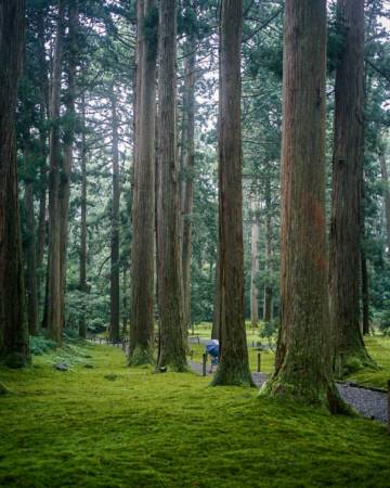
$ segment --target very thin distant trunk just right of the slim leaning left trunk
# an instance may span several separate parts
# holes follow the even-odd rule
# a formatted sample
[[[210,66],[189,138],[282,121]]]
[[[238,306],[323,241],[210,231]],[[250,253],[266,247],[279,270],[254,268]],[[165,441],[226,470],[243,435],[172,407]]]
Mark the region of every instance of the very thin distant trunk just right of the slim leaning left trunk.
[[[87,337],[86,301],[87,301],[87,143],[86,143],[86,100],[81,100],[81,222],[80,222],[80,284],[82,310],[79,321],[79,337]]]

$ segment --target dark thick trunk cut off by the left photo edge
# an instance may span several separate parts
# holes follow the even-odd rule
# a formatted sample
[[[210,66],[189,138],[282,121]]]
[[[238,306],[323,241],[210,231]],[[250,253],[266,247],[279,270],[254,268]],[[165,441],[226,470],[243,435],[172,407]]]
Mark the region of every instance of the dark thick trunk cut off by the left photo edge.
[[[0,361],[29,362],[17,196],[15,108],[25,2],[0,3]]]

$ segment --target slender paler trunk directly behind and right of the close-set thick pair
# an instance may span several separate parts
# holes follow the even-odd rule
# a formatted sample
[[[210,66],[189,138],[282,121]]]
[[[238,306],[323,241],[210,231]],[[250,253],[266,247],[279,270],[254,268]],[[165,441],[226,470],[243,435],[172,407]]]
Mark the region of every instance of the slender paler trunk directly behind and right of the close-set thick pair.
[[[190,2],[186,3],[190,9]],[[182,267],[184,291],[184,328],[191,325],[191,231],[194,193],[194,132],[195,132],[195,63],[196,43],[194,35],[188,35],[184,49],[184,100],[183,100],[183,198],[182,198]]]

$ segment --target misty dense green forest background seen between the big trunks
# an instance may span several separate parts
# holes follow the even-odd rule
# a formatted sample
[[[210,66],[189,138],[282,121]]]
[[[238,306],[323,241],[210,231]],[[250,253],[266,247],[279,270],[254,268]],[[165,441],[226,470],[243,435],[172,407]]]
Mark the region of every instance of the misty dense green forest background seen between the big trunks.
[[[191,222],[191,323],[213,320],[218,255],[217,1],[178,9],[178,155],[181,213]],[[370,328],[390,330],[389,87],[390,12],[365,5],[365,158],[362,310]],[[328,5],[327,211],[330,211],[335,69],[340,39]],[[156,11],[145,18],[156,44]],[[60,42],[60,48],[58,48]],[[157,47],[156,47],[157,49]],[[60,51],[61,50],[61,53]],[[60,222],[64,247],[65,329],[109,324],[129,331],[133,200],[135,2],[27,1],[18,89],[20,200],[28,320],[46,318],[50,219],[50,143],[62,154]],[[246,317],[278,317],[280,154],[283,2],[244,2],[242,125]],[[158,68],[157,68],[158,69]],[[53,85],[58,85],[53,114]],[[188,120],[194,119],[194,139]],[[52,136],[51,136],[52,138]],[[192,157],[188,159],[187,154]],[[190,163],[188,163],[190,162]],[[191,200],[187,202],[188,182]],[[186,206],[185,206],[186,205]],[[368,316],[367,316],[368,304]],[[364,317],[364,316],[363,316]],[[114,321],[114,323],[113,323]],[[367,330],[365,332],[368,332]],[[121,333],[121,332],[120,332]]]

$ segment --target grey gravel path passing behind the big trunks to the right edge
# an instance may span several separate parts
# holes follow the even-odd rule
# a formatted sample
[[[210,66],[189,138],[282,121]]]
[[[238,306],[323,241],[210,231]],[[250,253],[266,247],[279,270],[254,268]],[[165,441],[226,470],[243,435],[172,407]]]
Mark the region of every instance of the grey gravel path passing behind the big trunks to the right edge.
[[[198,374],[202,374],[202,364],[191,362],[191,369]],[[210,365],[207,364],[207,375],[211,375]],[[268,378],[264,373],[252,373],[253,382],[257,386],[261,386]],[[337,383],[337,388],[341,397],[352,406],[361,415],[387,422],[387,394],[385,391],[373,390],[359,386],[353,386],[348,383]]]

